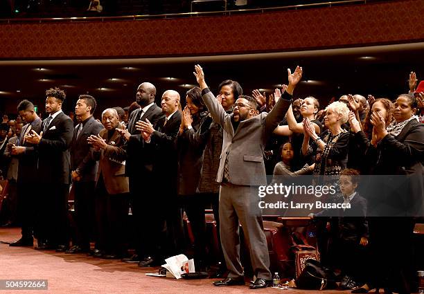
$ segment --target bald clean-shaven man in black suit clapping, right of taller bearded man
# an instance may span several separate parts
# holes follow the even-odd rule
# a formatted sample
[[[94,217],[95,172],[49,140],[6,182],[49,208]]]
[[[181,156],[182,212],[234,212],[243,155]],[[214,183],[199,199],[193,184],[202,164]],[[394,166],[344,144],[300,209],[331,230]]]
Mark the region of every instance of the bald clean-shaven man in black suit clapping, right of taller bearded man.
[[[184,248],[182,209],[177,203],[177,150],[175,138],[181,125],[179,111],[179,93],[168,90],[162,95],[162,111],[165,117],[155,125],[148,120],[138,122],[137,129],[142,133],[146,146],[152,147],[154,153],[153,174],[155,194],[150,194],[148,210],[150,210],[151,234],[146,239],[152,244],[150,256],[139,263],[140,267],[160,265],[163,257],[182,252]],[[152,185],[153,186],[153,185]],[[159,191],[158,191],[159,190]],[[165,209],[164,209],[165,208]],[[160,242],[161,228],[166,223],[166,241]],[[163,230],[163,229],[162,229]],[[148,238],[147,238],[148,237]],[[159,247],[161,251],[158,250]]]

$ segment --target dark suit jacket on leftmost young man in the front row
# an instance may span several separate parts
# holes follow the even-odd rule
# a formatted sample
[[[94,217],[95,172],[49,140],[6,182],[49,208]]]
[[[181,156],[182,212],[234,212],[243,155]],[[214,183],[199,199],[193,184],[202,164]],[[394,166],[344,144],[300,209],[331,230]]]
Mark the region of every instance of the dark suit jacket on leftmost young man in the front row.
[[[25,152],[17,156],[19,158],[17,178],[18,183],[37,182],[37,148],[35,148],[33,144],[30,144],[24,140],[24,136],[26,134],[30,134],[31,130],[37,132],[37,134],[42,131],[42,120],[40,118],[35,119],[30,124],[24,125],[22,128],[19,145],[25,147]]]

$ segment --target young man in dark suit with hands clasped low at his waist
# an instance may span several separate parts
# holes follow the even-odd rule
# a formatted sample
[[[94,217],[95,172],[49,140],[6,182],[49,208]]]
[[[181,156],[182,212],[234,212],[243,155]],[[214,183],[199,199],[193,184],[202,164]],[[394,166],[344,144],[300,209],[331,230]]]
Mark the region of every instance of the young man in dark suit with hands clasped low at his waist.
[[[98,161],[91,159],[89,136],[97,136],[103,125],[94,119],[96,99],[91,95],[80,95],[75,114],[80,123],[73,130],[71,143],[71,176],[73,181],[76,240],[67,253],[88,252],[94,231],[94,190]]]

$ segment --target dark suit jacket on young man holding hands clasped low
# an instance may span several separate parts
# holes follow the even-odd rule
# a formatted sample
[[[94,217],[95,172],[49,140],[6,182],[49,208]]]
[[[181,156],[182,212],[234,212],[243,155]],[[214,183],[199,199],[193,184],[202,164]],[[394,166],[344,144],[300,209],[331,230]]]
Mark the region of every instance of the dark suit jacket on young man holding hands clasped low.
[[[91,135],[97,136],[104,127],[91,116],[88,118],[87,122],[85,122],[84,127],[82,127],[80,131],[80,136],[77,138],[79,128],[80,124],[76,125],[73,130],[70,149],[71,170],[76,170],[76,172],[82,176],[81,182],[96,181],[98,162],[92,160],[90,156],[91,146],[87,143],[87,138]]]

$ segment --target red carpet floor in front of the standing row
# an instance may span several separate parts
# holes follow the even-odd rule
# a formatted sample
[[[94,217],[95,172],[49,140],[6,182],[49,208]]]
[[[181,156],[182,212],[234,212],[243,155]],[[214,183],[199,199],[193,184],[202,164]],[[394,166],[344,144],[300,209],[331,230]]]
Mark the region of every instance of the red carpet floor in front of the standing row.
[[[0,228],[1,241],[19,239],[20,229]],[[350,291],[299,291],[266,288],[250,290],[248,286],[215,287],[214,279],[169,279],[146,277],[158,268],[142,269],[136,264],[105,260],[86,255],[67,255],[53,250],[38,251],[30,247],[0,244],[0,279],[47,279],[48,291],[1,291],[3,293],[350,293]]]

